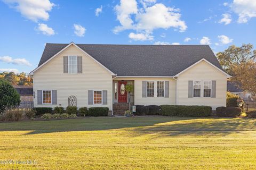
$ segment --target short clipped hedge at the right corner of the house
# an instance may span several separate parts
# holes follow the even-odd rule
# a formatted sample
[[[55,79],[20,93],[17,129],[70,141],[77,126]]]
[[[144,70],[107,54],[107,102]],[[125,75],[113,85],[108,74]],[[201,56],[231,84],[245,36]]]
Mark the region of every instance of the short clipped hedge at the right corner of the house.
[[[242,108],[239,107],[217,107],[216,113],[219,117],[239,117],[242,114]]]

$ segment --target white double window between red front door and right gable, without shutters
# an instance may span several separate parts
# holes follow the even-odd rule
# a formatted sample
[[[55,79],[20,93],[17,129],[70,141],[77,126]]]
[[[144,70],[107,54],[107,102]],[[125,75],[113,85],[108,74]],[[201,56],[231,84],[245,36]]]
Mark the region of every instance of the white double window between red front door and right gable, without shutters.
[[[164,97],[164,81],[156,81],[156,96]],[[155,97],[155,81],[147,81],[147,97]]]

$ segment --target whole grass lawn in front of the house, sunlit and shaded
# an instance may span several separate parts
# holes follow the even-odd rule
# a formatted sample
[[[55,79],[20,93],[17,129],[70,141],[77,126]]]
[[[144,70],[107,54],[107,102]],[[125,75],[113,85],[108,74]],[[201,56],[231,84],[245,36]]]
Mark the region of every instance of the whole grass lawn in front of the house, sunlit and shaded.
[[[256,120],[131,117],[0,123],[0,169],[256,169]]]

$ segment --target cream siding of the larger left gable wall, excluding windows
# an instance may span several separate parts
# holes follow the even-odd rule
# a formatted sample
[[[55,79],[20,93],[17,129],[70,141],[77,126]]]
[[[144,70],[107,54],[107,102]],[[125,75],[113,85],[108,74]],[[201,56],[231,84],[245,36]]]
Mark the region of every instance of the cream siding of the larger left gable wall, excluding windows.
[[[82,56],[83,72],[81,74],[63,74],[63,56]],[[84,54],[74,45],[69,46],[49,63],[34,73],[34,91],[54,89],[58,91],[57,105],[68,106],[68,97],[77,98],[77,107],[102,107],[88,105],[88,91],[107,90],[107,105],[112,110],[112,76],[105,68]],[[56,105],[37,105],[35,93],[34,107],[55,107]]]

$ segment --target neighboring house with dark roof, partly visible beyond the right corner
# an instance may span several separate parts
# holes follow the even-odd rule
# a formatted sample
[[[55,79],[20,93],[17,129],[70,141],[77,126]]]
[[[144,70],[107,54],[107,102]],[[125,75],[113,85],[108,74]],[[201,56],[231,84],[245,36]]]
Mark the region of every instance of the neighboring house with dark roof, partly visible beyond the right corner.
[[[232,94],[238,95],[241,98],[252,98],[251,92],[244,91],[237,86],[237,83],[232,81],[227,81],[227,91]]]

